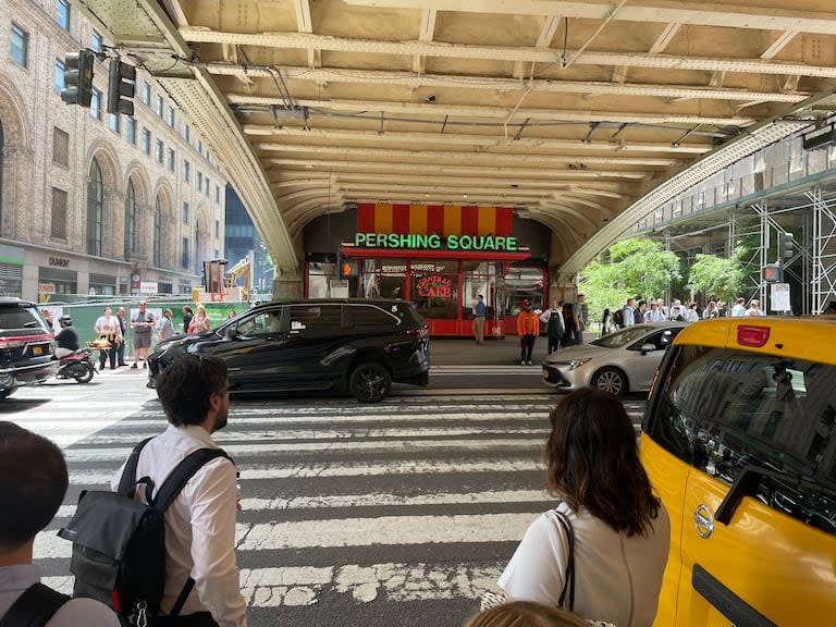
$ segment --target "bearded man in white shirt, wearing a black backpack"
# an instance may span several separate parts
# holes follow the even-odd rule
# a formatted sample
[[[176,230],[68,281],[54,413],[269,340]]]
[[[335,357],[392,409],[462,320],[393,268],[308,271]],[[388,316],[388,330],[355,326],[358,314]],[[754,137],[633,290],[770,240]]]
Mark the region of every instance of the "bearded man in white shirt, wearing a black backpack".
[[[228,385],[226,365],[218,357],[184,355],[165,368],[157,380],[157,395],[169,428],[143,447],[132,479],[147,477],[160,487],[189,454],[218,450],[211,434],[226,426]],[[114,491],[123,469],[111,481]],[[219,455],[194,472],[165,509],[161,613],[167,617],[160,625],[246,627],[247,606],[235,563],[237,505],[235,466]]]

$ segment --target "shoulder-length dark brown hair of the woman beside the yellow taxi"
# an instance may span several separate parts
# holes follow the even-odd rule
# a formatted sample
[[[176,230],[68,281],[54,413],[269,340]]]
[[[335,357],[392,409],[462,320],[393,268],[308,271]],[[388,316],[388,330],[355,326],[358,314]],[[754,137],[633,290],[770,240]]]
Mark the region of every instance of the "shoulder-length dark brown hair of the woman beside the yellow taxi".
[[[628,537],[647,533],[660,500],[639,460],[636,431],[622,402],[608,392],[581,388],[563,398],[549,419],[549,493]]]

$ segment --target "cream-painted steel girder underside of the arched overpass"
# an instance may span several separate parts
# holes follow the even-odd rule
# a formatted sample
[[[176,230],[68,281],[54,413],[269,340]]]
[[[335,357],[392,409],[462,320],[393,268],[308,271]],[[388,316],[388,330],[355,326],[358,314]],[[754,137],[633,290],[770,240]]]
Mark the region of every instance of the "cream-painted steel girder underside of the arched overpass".
[[[393,201],[513,206],[578,269],[676,174],[834,108],[833,0],[74,3],[186,111],[282,266],[318,216]]]

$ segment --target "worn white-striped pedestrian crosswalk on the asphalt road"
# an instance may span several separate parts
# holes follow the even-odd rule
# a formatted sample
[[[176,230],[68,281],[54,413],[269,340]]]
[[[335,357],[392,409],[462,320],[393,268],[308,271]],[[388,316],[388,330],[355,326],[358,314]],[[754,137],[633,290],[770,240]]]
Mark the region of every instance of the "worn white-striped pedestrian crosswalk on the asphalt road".
[[[462,625],[550,506],[541,459],[554,402],[445,391],[378,405],[233,401],[216,440],[241,471],[250,625]],[[118,421],[56,404],[60,426],[45,434],[63,440],[71,487],[35,557],[69,591],[71,545],[56,530],[81,490],[103,489],[165,421],[156,401]],[[643,402],[627,406],[638,422]]]

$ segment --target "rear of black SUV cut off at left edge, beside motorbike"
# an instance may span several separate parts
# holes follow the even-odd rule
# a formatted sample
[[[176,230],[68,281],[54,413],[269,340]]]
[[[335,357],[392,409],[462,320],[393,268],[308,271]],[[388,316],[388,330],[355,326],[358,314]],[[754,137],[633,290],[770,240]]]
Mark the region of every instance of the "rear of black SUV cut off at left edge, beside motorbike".
[[[34,303],[0,297],[0,398],[58,370],[52,330]]]

